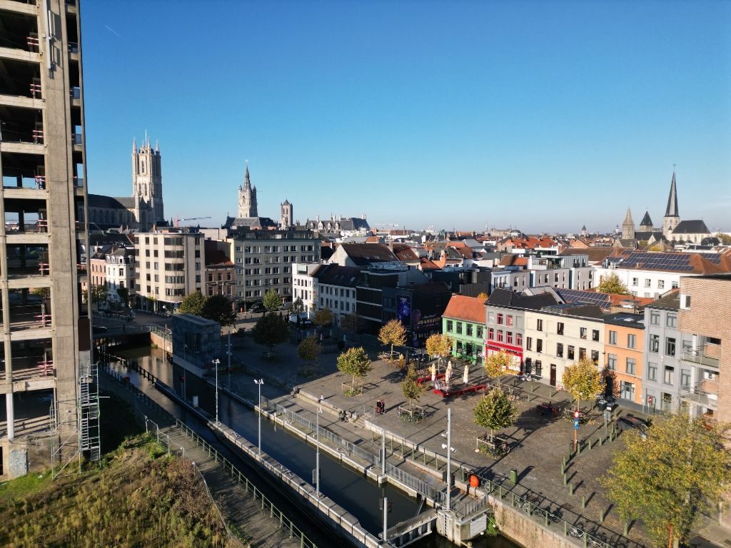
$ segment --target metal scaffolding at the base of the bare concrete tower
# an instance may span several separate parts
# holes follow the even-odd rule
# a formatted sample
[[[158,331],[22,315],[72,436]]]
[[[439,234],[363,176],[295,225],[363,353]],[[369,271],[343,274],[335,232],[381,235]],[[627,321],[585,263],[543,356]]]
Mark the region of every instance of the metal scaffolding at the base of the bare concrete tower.
[[[92,463],[102,457],[99,435],[99,368],[95,363],[79,366],[77,399],[54,400],[50,407],[51,470],[56,478],[70,471],[69,465],[78,461],[81,471],[83,457]]]

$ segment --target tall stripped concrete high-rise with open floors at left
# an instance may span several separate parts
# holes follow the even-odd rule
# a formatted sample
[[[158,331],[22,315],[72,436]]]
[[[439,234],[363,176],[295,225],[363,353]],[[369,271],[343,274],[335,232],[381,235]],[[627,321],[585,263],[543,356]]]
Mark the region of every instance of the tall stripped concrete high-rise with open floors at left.
[[[26,473],[29,459],[48,463],[50,454],[56,465],[83,454],[98,460],[99,427],[90,414],[98,400],[82,291],[88,229],[78,2],[3,1],[0,28],[4,480]],[[53,402],[50,418],[45,398]],[[50,451],[48,437],[27,443],[49,421]]]

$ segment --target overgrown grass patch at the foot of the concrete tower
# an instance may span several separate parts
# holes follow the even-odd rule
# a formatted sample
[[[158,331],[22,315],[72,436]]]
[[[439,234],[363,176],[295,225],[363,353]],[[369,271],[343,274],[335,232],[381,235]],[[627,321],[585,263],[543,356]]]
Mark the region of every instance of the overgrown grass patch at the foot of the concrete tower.
[[[0,546],[241,546],[228,539],[192,464],[151,436],[127,438],[86,473],[37,476],[0,487]]]

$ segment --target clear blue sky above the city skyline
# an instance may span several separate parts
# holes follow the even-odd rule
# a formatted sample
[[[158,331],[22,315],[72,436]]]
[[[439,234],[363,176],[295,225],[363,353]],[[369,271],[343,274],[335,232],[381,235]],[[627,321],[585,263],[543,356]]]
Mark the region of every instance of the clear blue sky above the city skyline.
[[[88,189],[165,213],[609,230],[631,205],[731,230],[731,2],[83,1]]]

